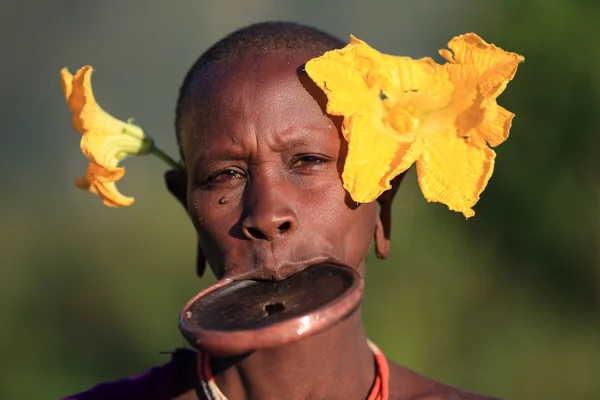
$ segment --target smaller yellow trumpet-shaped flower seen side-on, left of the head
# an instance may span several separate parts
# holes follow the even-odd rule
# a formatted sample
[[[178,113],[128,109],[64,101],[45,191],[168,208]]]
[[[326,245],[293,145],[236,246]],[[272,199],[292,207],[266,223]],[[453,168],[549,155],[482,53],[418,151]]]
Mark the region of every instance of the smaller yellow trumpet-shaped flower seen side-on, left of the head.
[[[83,135],[81,150],[90,159],[85,176],[77,178],[75,184],[98,195],[107,206],[128,206],[133,197],[122,195],[115,185],[125,174],[118,165],[128,155],[152,152],[154,142],[140,127],[114,118],[96,103],[92,71],[90,66],[79,69],[75,76],[66,68],[60,71],[63,93],[73,112],[73,127]]]

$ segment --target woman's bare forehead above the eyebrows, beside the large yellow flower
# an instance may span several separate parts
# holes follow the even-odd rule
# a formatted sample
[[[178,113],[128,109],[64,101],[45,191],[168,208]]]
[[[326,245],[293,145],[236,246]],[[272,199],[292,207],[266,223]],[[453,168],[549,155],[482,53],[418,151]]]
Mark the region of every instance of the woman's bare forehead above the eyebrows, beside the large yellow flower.
[[[303,72],[306,61],[318,55],[247,52],[204,68],[193,82],[179,124],[186,159],[199,144],[245,129],[240,125],[259,131],[284,129],[286,124],[331,125],[323,111],[325,95]]]

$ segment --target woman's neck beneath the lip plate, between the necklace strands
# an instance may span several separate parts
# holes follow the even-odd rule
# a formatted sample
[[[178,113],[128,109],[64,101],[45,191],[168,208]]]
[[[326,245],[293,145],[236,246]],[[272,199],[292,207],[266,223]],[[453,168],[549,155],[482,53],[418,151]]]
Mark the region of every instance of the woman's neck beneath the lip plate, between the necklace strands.
[[[375,361],[360,309],[336,326],[273,349],[212,359],[215,382],[229,399],[364,400]]]

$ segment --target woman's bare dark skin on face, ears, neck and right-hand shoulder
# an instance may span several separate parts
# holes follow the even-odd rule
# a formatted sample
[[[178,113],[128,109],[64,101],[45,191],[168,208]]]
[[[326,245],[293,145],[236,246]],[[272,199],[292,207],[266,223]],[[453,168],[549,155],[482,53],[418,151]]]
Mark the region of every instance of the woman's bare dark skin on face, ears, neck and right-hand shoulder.
[[[219,279],[284,279],[321,262],[365,274],[373,238],[389,252],[391,202],[357,205],[344,190],[339,119],[301,66],[318,54],[244,53],[217,62],[181,121],[187,173],[167,186],[186,207],[204,260]],[[225,200],[223,200],[225,199]],[[489,399],[390,364],[390,399]],[[360,310],[333,328],[274,349],[214,358],[230,399],[365,399],[375,378]],[[202,394],[197,394],[202,398]]]

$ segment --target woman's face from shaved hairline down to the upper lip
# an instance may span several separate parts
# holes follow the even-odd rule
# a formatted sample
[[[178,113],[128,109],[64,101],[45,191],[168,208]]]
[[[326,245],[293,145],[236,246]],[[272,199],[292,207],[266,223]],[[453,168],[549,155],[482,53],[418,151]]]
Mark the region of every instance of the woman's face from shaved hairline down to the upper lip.
[[[364,270],[376,205],[342,187],[346,142],[298,72],[310,58],[218,61],[188,99],[187,208],[217,278],[283,279],[321,262]]]

